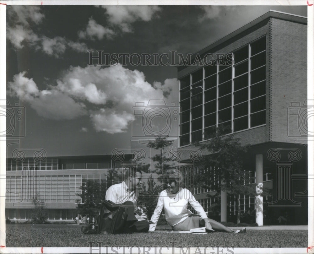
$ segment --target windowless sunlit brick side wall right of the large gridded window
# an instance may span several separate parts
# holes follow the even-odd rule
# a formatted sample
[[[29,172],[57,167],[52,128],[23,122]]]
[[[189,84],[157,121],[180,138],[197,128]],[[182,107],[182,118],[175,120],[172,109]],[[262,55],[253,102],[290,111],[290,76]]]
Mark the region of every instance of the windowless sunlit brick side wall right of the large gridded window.
[[[270,27],[270,140],[294,143],[302,137],[298,115],[288,116],[288,107],[307,98],[307,25],[271,18]]]

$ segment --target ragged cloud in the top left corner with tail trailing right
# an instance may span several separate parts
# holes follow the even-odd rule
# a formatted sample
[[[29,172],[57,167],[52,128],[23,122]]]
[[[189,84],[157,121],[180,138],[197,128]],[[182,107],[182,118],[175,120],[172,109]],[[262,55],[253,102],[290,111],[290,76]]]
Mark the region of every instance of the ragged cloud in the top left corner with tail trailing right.
[[[49,56],[60,57],[67,48],[78,52],[86,52],[85,43],[73,42],[56,36],[49,38],[37,35],[32,29],[41,24],[45,18],[39,6],[11,5],[8,7],[7,38],[15,48],[21,49],[27,43],[35,50],[41,50]]]

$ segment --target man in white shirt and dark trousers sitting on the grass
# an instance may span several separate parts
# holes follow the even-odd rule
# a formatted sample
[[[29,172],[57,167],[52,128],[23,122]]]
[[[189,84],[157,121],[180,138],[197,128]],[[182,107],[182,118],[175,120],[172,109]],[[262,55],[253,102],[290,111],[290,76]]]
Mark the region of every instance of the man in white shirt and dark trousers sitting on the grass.
[[[106,191],[106,201],[110,201],[113,204],[121,204],[120,209],[124,209],[125,212],[125,224],[123,225],[121,230],[118,230],[118,233],[148,232],[148,221],[138,215],[134,215],[134,210],[138,199],[138,187],[142,182],[142,172],[136,170],[135,168],[129,168],[125,171],[124,176],[125,180],[122,183],[114,184],[110,186]],[[118,210],[112,212],[111,218],[114,218],[117,211]],[[99,220],[97,219],[98,225],[101,225],[101,227],[103,228],[98,229],[98,231],[100,231],[100,234],[108,234],[111,225],[106,225],[106,223],[108,223],[108,220],[106,220],[105,224],[101,223],[101,219],[102,218],[99,218]],[[121,218],[117,219],[121,220]],[[82,232],[84,234],[94,234],[96,233],[96,231],[97,228],[95,227],[95,225],[92,225],[92,228],[82,228]]]

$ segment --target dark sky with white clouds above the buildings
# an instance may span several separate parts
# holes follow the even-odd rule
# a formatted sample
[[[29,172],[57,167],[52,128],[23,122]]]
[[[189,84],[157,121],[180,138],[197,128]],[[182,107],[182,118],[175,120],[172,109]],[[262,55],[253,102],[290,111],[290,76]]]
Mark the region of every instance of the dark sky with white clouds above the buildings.
[[[47,156],[111,154],[140,136],[152,138],[142,128],[143,112],[149,100],[177,109],[177,68],[142,66],[136,55],[89,65],[88,50],[195,53],[270,9],[307,16],[306,6],[8,5],[7,100],[24,117],[9,129],[7,139],[23,137],[7,140],[7,156],[17,148],[27,156],[38,148]],[[176,119],[171,115],[162,133],[177,137]],[[152,130],[168,120],[157,114]]]

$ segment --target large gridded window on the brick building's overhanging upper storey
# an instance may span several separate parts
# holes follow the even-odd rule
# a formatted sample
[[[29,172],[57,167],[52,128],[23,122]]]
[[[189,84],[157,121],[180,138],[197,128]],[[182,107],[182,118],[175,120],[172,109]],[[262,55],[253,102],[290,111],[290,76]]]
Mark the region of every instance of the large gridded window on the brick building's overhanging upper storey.
[[[266,36],[230,54],[180,79],[180,146],[266,123]]]

